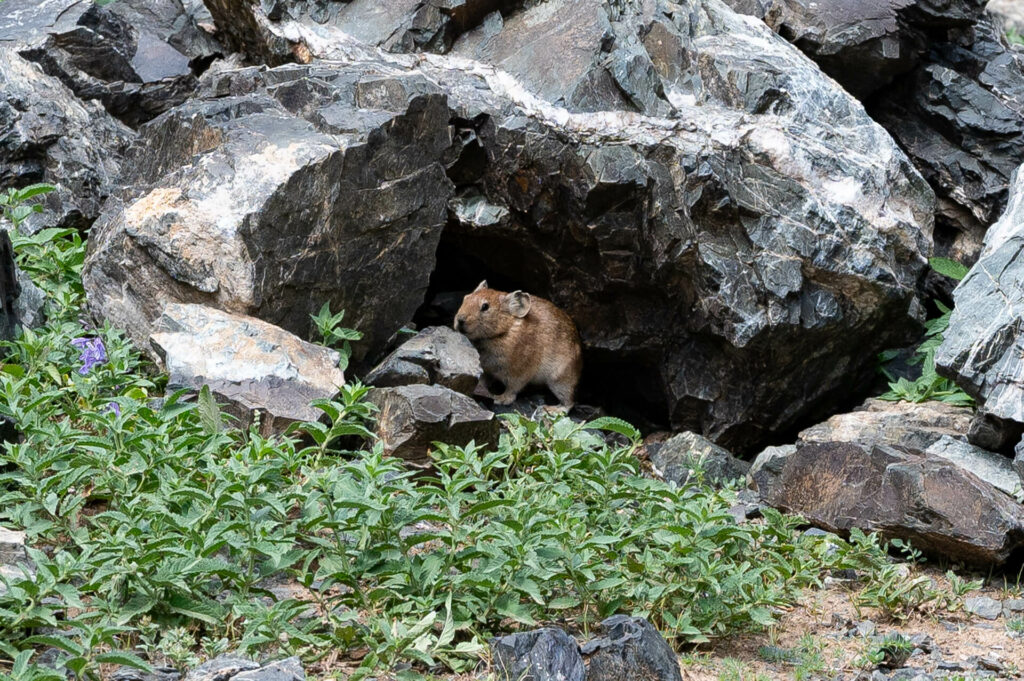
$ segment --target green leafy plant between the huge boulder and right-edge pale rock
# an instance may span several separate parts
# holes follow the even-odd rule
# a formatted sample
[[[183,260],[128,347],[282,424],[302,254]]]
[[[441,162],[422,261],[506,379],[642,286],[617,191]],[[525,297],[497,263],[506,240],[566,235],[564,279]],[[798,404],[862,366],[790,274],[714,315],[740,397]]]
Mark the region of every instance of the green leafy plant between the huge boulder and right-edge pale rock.
[[[935,271],[956,281],[964,279],[968,272],[967,267],[948,258],[932,258],[929,262]],[[890,383],[889,391],[880,395],[880,399],[910,402],[935,399],[965,407],[974,405],[974,399],[959,386],[951,380],[939,376],[935,371],[935,352],[942,345],[942,335],[949,327],[949,317],[952,314],[952,308],[946,307],[938,301],[935,301],[935,304],[942,314],[925,323],[925,341],[918,346],[914,356],[908,363],[912,366],[921,366],[921,376],[913,381],[893,376],[885,364],[895,357],[897,351],[887,350],[881,353],[879,355],[881,371],[890,380]]]

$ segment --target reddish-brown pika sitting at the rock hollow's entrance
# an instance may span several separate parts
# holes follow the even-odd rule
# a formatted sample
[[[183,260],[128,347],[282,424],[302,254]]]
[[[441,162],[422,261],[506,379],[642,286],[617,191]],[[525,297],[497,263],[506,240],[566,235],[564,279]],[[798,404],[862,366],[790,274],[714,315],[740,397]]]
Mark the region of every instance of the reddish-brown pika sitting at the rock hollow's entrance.
[[[463,299],[455,330],[479,350],[483,371],[505,384],[496,403],[511,405],[535,384],[548,386],[566,410],[572,407],[583,370],[580,333],[551,301],[495,291],[483,281]]]

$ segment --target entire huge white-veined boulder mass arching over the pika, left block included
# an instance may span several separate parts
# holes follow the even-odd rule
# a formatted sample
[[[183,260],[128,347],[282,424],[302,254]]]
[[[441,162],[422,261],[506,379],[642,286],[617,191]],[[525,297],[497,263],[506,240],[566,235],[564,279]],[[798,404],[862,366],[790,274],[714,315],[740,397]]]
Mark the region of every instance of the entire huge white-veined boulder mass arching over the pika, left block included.
[[[551,299],[609,406],[743,453],[866,388],[873,351],[915,329],[931,248],[933,197],[906,158],[717,2],[579,0],[603,28],[563,35],[567,2],[409,57],[345,37],[344,7],[317,24],[313,5],[278,20],[211,0],[254,58],[317,60],[209,74],[145,126],[92,240],[93,309],[135,338],[165,300],[304,335],[330,300],[367,333],[358,366],[423,302],[443,229],[442,250],[483,271],[440,260],[435,282],[494,273]],[[575,94],[516,73],[500,58],[514,42],[574,54]]]

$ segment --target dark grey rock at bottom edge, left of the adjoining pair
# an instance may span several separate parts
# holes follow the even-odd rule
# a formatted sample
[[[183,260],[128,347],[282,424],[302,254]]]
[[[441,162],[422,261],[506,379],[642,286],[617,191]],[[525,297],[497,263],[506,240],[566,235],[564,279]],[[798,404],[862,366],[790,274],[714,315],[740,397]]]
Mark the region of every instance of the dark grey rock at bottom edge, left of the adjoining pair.
[[[490,641],[498,681],[584,681],[580,646],[561,629],[538,629]]]

